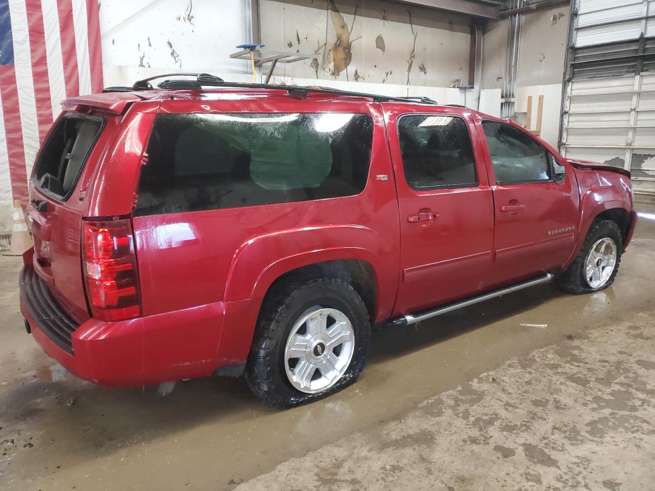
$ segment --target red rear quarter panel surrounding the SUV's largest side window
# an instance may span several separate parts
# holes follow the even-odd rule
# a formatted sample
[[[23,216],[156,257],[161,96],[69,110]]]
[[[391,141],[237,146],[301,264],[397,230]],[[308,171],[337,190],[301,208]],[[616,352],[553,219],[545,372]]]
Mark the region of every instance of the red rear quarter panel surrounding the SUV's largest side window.
[[[400,236],[379,105],[315,99],[321,103],[312,97],[162,102],[161,111],[171,113],[368,113],[374,122],[373,148],[367,185],[356,196],[135,217],[144,315],[225,300],[227,310],[248,302],[256,319],[261,297],[280,274],[331,259],[369,262],[379,283],[376,318],[390,314],[398,285]],[[377,180],[379,174],[388,175],[388,180]],[[252,304],[250,298],[255,299]],[[234,329],[252,334],[254,323],[249,320]]]

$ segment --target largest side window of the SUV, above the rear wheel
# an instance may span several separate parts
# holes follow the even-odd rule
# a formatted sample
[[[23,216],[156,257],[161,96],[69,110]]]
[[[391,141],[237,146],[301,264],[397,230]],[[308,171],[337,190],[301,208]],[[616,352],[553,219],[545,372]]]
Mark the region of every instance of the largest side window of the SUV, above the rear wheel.
[[[135,215],[353,196],[372,141],[361,114],[159,115]]]

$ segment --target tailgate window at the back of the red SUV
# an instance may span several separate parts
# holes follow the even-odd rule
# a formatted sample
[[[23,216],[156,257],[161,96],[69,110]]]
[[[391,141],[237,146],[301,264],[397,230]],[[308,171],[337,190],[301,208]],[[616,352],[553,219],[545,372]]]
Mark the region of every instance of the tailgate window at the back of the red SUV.
[[[96,117],[64,117],[52,129],[36,164],[37,186],[56,198],[68,198],[102,131]]]

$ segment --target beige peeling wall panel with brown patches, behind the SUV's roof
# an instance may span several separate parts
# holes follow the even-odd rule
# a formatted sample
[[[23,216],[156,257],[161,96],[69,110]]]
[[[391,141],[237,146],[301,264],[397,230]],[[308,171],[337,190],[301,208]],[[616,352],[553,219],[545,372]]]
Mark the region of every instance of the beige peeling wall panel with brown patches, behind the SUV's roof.
[[[411,85],[468,84],[468,16],[382,0],[333,3],[350,31],[352,53],[348,73],[333,75],[329,52],[337,31],[330,5],[327,0],[260,1],[261,40],[267,48],[321,55],[313,67],[310,60],[278,64],[276,75],[407,84],[411,62]]]

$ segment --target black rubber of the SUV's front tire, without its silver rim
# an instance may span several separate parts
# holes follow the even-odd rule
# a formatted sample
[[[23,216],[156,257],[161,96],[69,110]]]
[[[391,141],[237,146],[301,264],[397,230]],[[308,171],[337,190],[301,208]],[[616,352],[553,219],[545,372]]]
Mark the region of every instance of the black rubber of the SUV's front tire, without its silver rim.
[[[614,240],[614,244],[616,244],[616,263],[614,264],[614,270],[607,282],[600,287],[592,288],[589,286],[585,278],[586,259],[591,251],[591,246],[605,237]],[[618,266],[621,263],[622,252],[623,240],[618,225],[611,220],[596,219],[591,223],[587,237],[585,238],[575,261],[573,261],[571,266],[569,266],[569,268],[557,278],[555,283],[562,291],[574,293],[575,295],[603,290],[614,283],[614,278],[616,278],[616,273],[618,272]]]

